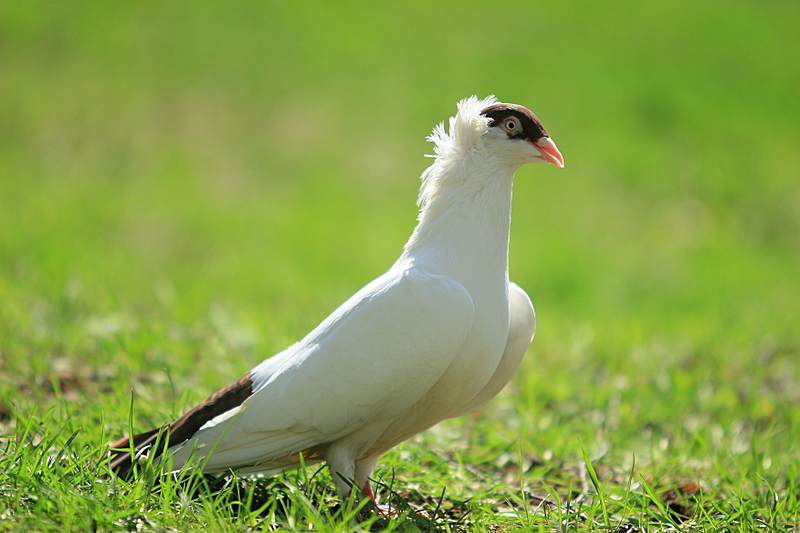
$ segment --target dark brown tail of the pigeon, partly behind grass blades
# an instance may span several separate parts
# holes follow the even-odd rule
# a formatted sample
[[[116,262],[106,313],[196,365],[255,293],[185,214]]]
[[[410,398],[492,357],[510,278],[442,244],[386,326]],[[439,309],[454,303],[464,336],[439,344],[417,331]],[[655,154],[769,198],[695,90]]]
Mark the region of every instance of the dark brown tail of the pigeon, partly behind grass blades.
[[[252,381],[248,373],[190,409],[175,422],[111,444],[109,468],[119,477],[127,479],[131,475],[137,454],[147,450],[151,459],[161,456],[170,446],[189,440],[206,422],[241,405],[252,394]]]

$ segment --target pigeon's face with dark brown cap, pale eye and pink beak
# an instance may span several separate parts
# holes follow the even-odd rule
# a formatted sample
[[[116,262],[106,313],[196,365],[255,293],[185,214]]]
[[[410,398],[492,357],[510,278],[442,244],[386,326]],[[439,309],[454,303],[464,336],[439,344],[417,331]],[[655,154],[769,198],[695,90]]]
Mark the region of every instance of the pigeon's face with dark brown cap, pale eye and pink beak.
[[[498,141],[519,146],[524,159],[564,167],[564,157],[530,109],[515,104],[493,104],[480,114],[488,119],[488,133]],[[525,157],[527,156],[527,157]]]

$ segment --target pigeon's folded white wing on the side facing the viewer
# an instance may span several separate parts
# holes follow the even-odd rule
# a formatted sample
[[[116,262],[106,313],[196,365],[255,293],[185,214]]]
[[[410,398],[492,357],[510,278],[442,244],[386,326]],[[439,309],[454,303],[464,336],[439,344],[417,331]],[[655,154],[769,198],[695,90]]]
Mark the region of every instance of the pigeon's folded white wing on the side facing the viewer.
[[[253,395],[176,447],[214,450],[205,468],[272,461],[405,413],[445,372],[472,327],[467,290],[419,269],[390,271],[305,339],[251,373]],[[228,422],[232,420],[232,422]]]

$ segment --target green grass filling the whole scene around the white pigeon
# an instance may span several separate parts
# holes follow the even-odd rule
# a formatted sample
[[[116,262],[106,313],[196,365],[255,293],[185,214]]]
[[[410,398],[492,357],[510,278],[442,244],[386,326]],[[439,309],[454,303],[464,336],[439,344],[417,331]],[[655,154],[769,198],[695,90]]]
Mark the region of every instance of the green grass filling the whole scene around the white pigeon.
[[[0,531],[796,529],[798,27],[790,1],[0,4]],[[405,515],[354,520],[316,468],[103,475],[130,420],[388,268],[425,135],[490,93],[566,158],[516,181],[538,330],[486,409],[386,454]]]

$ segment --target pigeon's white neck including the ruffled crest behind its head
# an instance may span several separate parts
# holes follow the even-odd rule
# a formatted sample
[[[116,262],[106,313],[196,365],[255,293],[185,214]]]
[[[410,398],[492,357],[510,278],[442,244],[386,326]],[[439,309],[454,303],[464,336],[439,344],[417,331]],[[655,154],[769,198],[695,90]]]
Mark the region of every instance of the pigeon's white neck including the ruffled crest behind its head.
[[[507,275],[511,189],[516,166],[487,144],[480,111],[496,100],[467,98],[429,137],[436,160],[422,174],[419,224],[400,261],[455,274],[467,265]],[[482,265],[482,267],[480,266]],[[485,274],[485,272],[484,272]]]

